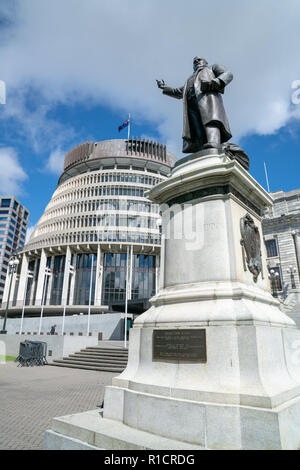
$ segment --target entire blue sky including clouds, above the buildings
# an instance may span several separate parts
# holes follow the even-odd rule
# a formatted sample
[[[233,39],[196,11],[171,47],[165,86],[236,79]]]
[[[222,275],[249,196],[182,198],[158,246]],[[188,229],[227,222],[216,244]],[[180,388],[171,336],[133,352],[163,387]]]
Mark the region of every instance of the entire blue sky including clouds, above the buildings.
[[[251,174],[271,191],[300,187],[298,0],[1,0],[0,185],[37,223],[63,157],[86,140],[159,140],[179,158],[182,103],[162,96],[183,85],[195,55],[234,74],[224,96]]]

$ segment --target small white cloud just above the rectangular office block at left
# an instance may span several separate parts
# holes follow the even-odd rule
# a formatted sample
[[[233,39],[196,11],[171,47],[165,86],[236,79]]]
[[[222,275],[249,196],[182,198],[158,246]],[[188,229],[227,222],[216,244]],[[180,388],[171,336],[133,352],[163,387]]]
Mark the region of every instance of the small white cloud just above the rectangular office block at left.
[[[22,183],[27,179],[27,175],[13,148],[0,147],[0,168],[1,195],[17,196],[22,194]]]

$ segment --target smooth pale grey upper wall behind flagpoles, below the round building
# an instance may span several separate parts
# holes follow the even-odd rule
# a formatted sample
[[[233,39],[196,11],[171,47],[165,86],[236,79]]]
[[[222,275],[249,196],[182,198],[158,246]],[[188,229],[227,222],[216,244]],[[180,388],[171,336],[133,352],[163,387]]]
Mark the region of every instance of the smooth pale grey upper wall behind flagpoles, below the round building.
[[[62,316],[44,317],[42,321],[41,333],[47,335],[51,327],[56,325],[56,332],[58,335],[62,333]],[[73,333],[74,336],[86,336],[87,334],[87,315],[66,316],[64,332],[66,336]],[[90,317],[90,333],[93,337],[98,339],[99,333],[102,334],[103,340],[121,340],[123,338],[123,320],[121,320],[121,313],[105,313],[91,315]],[[1,324],[1,319],[0,319]],[[21,325],[20,318],[8,318],[6,329],[10,335],[19,333]],[[25,317],[23,321],[22,331],[25,334],[38,333],[40,325],[39,317]],[[23,335],[24,336],[24,335]],[[35,336],[36,338],[36,336]],[[0,338],[1,339],[1,338]]]

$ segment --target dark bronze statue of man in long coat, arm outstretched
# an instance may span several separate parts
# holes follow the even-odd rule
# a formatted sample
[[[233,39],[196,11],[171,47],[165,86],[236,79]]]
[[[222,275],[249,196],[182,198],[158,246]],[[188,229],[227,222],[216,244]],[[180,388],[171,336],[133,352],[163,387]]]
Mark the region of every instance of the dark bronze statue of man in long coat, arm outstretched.
[[[231,139],[231,131],[221,94],[233,79],[222,65],[208,66],[205,59],[194,58],[194,73],[180,88],[157,80],[163,93],[184,102],[183,153],[218,148]]]

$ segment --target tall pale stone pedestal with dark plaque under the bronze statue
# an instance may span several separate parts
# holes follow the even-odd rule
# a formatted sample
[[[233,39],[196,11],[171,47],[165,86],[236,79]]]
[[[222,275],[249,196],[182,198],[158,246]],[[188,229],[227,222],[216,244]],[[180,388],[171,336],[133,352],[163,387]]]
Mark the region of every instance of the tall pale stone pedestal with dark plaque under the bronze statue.
[[[299,448],[300,334],[270,293],[262,242],[271,197],[210,150],[179,162],[150,198],[163,209],[161,289],[131,329],[128,366],[106,388],[103,422],[179,448]],[[261,239],[257,279],[241,245],[246,214]],[[179,330],[205,330],[206,357],[157,358],[157,330],[170,341]]]

